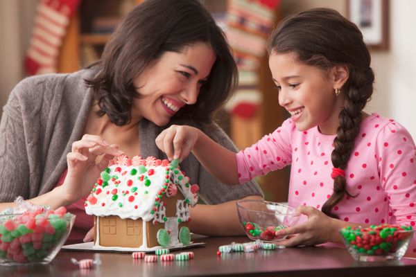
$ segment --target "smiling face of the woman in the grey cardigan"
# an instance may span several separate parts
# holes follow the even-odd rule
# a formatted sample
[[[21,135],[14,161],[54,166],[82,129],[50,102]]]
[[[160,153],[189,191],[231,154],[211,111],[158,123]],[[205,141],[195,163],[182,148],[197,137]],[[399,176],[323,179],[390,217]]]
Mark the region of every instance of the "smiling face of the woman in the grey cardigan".
[[[182,107],[196,103],[215,60],[211,46],[204,43],[164,53],[133,82],[140,98],[132,104],[132,118],[166,125]]]

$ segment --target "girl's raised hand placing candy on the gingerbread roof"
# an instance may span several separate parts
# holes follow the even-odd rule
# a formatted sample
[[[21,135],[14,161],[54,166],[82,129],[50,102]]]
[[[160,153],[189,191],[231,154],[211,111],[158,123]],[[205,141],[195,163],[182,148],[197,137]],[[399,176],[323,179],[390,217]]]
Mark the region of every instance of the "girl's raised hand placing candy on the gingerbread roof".
[[[164,129],[155,142],[157,147],[166,153],[169,161],[183,161],[198,141],[199,130],[187,125],[172,125]]]

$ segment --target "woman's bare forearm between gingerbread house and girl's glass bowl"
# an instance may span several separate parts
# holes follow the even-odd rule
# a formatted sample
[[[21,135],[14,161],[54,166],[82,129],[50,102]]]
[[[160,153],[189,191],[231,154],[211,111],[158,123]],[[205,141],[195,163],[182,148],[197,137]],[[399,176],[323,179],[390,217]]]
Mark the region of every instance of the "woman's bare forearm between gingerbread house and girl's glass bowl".
[[[262,198],[258,195],[250,195],[242,199]],[[238,200],[216,205],[197,204],[192,207],[191,222],[189,222],[191,232],[201,235],[243,235],[243,227],[239,222],[236,208]]]

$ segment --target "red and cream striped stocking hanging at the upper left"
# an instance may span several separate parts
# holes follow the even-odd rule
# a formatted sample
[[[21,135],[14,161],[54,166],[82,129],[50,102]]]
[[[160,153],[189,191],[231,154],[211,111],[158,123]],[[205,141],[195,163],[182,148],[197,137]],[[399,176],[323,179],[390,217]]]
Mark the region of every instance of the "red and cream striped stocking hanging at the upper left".
[[[80,0],[40,0],[24,66],[28,75],[58,71],[62,39]]]

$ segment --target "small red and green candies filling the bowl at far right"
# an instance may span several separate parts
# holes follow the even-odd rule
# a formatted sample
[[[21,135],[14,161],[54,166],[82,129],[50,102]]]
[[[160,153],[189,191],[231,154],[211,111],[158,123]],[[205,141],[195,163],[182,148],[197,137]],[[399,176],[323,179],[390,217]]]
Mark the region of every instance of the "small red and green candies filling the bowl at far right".
[[[345,241],[358,253],[377,256],[395,253],[399,247],[406,243],[409,236],[413,235],[408,232],[410,230],[412,230],[412,226],[382,224],[356,229],[347,226],[340,232]]]

